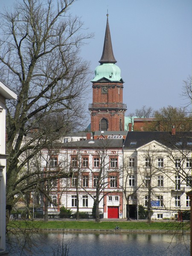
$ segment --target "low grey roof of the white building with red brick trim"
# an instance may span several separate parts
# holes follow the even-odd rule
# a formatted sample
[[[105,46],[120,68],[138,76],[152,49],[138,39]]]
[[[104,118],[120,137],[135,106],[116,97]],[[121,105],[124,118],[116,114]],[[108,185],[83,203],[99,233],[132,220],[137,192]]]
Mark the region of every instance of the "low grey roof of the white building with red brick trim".
[[[80,140],[69,143],[55,143],[54,146],[64,148],[122,148],[123,140]]]

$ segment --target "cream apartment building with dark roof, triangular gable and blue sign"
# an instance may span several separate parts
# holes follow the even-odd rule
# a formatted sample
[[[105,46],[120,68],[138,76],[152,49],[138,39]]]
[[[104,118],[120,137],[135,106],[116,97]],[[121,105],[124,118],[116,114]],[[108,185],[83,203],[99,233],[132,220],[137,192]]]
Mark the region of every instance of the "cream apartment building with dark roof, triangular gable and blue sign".
[[[192,183],[190,132],[128,132],[123,154],[131,218],[137,218],[139,205],[147,209],[149,200],[152,219],[180,218],[181,212],[190,209],[186,195]]]

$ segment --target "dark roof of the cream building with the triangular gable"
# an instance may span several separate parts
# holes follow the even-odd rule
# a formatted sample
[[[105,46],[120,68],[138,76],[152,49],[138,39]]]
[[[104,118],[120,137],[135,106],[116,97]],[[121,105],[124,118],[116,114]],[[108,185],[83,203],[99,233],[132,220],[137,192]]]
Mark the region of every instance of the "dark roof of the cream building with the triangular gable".
[[[129,131],[124,142],[124,149],[137,149],[153,140],[173,149],[192,149],[191,132],[176,132],[172,135],[171,132],[166,131]]]

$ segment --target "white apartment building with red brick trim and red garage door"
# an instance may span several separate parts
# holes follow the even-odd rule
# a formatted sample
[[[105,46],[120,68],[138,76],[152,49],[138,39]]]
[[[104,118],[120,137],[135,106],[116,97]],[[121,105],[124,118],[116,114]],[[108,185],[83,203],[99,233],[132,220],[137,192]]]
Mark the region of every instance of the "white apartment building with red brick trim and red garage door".
[[[76,212],[79,198],[79,211],[91,215],[98,191],[101,216],[122,218],[122,143],[122,139],[81,140],[44,148],[42,169],[70,176],[52,182],[49,214],[58,214],[62,206]]]

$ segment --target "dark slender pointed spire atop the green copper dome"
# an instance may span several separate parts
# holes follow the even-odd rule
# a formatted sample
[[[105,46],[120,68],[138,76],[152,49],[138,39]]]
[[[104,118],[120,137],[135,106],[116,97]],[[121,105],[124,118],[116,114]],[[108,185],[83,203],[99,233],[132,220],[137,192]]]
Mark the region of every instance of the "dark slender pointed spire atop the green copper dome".
[[[113,55],[113,47],[111,43],[111,34],[109,29],[109,22],[108,22],[108,14],[107,14],[107,25],[105,30],[105,40],[103,45],[103,53],[100,59],[100,63],[116,63],[116,59]]]

